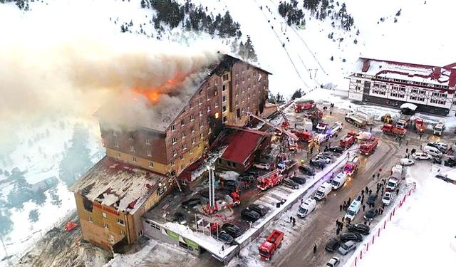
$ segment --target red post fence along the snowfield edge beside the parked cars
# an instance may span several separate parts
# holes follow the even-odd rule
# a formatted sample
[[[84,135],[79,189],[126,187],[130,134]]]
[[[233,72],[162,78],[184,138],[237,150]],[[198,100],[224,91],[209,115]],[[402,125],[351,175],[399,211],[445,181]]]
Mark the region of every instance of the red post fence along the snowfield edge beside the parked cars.
[[[361,246],[353,253],[353,255],[348,258],[348,261],[344,265],[345,267],[354,267],[357,266],[357,264],[363,259],[364,256],[366,256],[366,253],[368,253],[369,249],[372,248],[372,246],[375,244],[375,239],[380,238],[380,233],[386,229],[386,225],[388,224],[388,221],[391,221],[393,219],[393,216],[395,216],[396,212],[398,209],[404,204],[405,200],[407,199],[412,192],[415,192],[416,189],[416,183],[413,183],[412,187],[408,189],[407,192],[403,195],[403,198],[400,199],[400,201],[395,201],[395,206],[393,206],[392,209],[390,209],[390,214],[385,216],[378,224],[375,226],[374,229],[371,230],[371,234],[373,234],[367,241],[364,241]]]

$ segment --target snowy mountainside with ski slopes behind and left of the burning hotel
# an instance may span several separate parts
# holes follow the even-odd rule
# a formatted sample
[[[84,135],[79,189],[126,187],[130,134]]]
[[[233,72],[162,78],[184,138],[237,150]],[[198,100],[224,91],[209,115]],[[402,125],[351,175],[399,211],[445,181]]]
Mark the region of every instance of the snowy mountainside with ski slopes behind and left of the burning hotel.
[[[170,30],[163,25],[163,31],[158,33],[152,22],[155,11],[141,9],[140,2],[43,0],[30,2],[31,11],[21,11],[12,3],[0,4],[0,23],[4,26],[2,28],[5,36],[17,37],[21,36],[21,33],[28,34],[27,29],[36,29],[33,31],[35,38],[48,38],[46,34],[49,32],[56,36],[61,33],[71,35],[73,31],[119,33],[120,26],[128,24],[132,33],[123,34],[134,34],[140,38],[158,37],[162,43],[181,43],[187,46],[211,42],[214,47],[222,46],[227,51],[231,50],[234,38],[224,39],[216,36],[212,40],[208,33],[187,32],[182,26]],[[184,4],[185,0],[178,2]],[[353,62],[361,55],[435,65],[446,65],[455,61],[451,49],[453,37],[448,30],[452,25],[452,10],[456,6],[452,1],[443,3],[438,0],[346,0],[347,12],[355,21],[351,31],[343,30],[338,24],[332,26],[333,20],[330,16],[321,21],[316,19],[316,14],[311,14],[307,10],[304,10],[305,28],[288,26],[279,15],[280,0],[192,2],[207,6],[207,11],[212,12],[213,16],[229,11],[234,21],[240,23],[243,33],[241,39],[245,41],[247,36],[252,38],[258,55],[257,64],[273,73],[269,87],[273,93],[291,95],[298,88],[311,90],[320,88],[321,85],[331,85],[330,87],[338,90],[339,95],[343,95],[343,91],[348,87],[345,77],[350,73]],[[341,9],[340,6],[343,4],[343,1],[328,2],[334,6],[335,11]],[[300,0],[298,3],[298,7],[302,8],[303,1]],[[35,25],[37,21],[41,28]],[[43,37],[41,33],[46,34]],[[47,43],[52,44],[51,41],[50,38]],[[39,58],[40,55],[35,56]],[[11,65],[6,67],[10,68]],[[0,88],[4,86],[1,83],[0,80]],[[1,93],[0,89],[0,104]],[[40,110],[34,112],[40,113]],[[5,116],[0,117],[0,121],[7,121],[6,115],[0,115]],[[28,184],[59,176],[58,164],[63,152],[66,151],[65,144],[69,144],[73,127],[76,123],[81,123],[81,119],[75,119],[73,115],[69,118],[54,114],[55,116],[57,119],[40,120],[24,127],[16,125],[8,130],[4,127],[5,123],[0,125],[0,139],[7,138],[11,141],[8,150],[5,148],[2,150],[4,153],[0,153],[0,169],[3,171],[0,175],[2,204],[8,201],[8,194],[14,189],[14,183],[4,174],[5,170],[11,172],[15,167],[19,168],[25,172],[24,177]],[[65,124],[66,127],[61,127],[60,121],[68,122]],[[91,159],[95,161],[102,155],[97,122],[86,117],[82,122],[90,132],[88,147]],[[4,143],[0,142],[0,145]],[[6,154],[9,157],[5,157]],[[61,181],[61,177],[58,178]],[[6,234],[6,247],[9,253],[16,253],[25,247],[26,243],[23,242],[28,239],[30,233],[24,229],[39,233],[39,230],[46,229],[59,219],[58,216],[51,214],[64,214],[63,211],[74,208],[72,194],[63,182],[56,188],[62,200],[61,207],[52,203],[50,192],[46,192],[47,200],[41,206],[33,201],[27,201],[23,209],[1,207],[0,219],[9,217],[14,223],[9,234]],[[37,209],[40,214],[39,221],[35,223],[27,220],[33,209]],[[3,255],[4,251],[0,250],[0,258]]]

